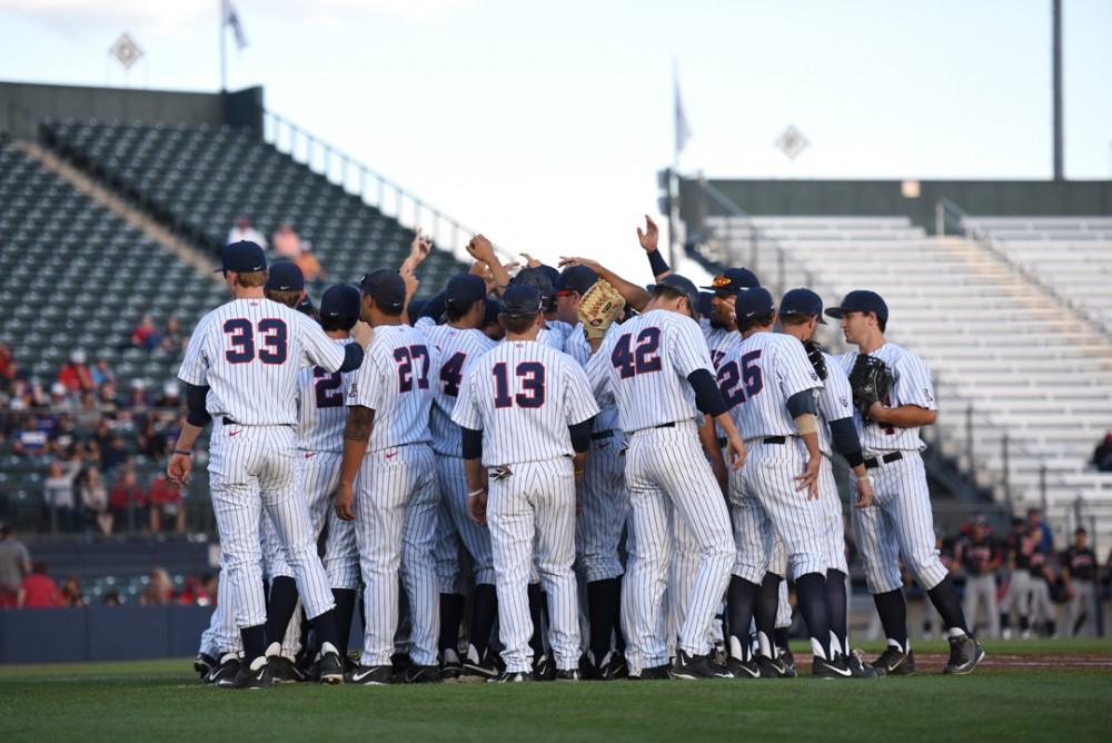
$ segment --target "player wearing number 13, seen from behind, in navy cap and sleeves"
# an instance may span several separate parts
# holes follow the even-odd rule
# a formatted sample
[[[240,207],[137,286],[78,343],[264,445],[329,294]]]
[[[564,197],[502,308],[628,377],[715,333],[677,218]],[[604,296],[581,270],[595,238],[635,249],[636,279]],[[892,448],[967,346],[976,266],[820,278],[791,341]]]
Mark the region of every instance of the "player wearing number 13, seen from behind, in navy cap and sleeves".
[[[575,482],[583,476],[598,407],[583,369],[536,340],[540,308],[535,288],[506,289],[506,340],[474,363],[451,416],[463,428],[470,514],[490,528],[505,646],[502,682],[533,677],[527,585],[534,549],[548,594],[556,678],[579,677]]]

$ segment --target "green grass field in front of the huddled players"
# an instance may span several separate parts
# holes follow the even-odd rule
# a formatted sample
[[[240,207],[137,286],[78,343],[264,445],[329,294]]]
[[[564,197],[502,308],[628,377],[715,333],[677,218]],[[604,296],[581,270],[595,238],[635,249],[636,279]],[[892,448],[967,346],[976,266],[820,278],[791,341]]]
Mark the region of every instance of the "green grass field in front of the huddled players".
[[[920,643],[916,651],[941,648]],[[932,672],[880,681],[302,685],[260,692],[201,685],[188,660],[9,665],[0,666],[0,731],[4,741],[160,743],[1110,740],[1112,642],[990,643],[986,650],[987,662],[961,678]],[[804,653],[800,646],[801,660]],[[1083,657],[1093,654],[1102,657]],[[1014,662],[1046,665],[1004,665]]]

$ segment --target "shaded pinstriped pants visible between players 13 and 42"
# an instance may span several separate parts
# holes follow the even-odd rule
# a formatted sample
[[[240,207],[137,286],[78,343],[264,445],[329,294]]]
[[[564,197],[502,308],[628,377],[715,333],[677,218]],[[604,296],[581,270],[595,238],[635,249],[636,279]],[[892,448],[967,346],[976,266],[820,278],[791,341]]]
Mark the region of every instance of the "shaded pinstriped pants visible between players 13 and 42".
[[[629,514],[620,455],[622,435],[590,442],[578,489],[579,515],[575,525],[576,571],[585,583],[606,581],[623,573],[618,543]]]

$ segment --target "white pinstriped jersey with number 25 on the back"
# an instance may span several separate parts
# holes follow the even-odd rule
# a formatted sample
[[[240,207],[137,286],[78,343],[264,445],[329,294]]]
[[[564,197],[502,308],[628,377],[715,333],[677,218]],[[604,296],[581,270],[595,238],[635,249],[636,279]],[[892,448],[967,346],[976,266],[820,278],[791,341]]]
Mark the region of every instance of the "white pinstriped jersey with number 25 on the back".
[[[792,336],[754,333],[722,359],[718,387],[743,439],[795,436],[798,430],[787,400],[823,383]]]

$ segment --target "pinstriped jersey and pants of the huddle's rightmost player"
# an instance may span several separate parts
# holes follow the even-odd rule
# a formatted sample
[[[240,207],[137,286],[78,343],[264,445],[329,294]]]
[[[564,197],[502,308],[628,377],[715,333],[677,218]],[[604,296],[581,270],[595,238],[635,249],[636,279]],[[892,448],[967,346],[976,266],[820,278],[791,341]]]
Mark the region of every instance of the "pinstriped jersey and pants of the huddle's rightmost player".
[[[917,405],[935,410],[934,385],[926,361],[895,344],[886,343],[871,356],[887,365],[895,379],[885,407]],[[857,354],[843,354],[836,360],[848,374]],[[919,428],[885,426],[862,419],[854,410],[865,459],[875,458],[873,505],[854,508],[853,531],[865,564],[870,592],[887,593],[903,585],[900,558],[924,590],[930,591],[946,577],[934,539],[934,515],[926,487],[926,470],[920,452],[924,448]],[[887,460],[885,460],[887,459]]]

